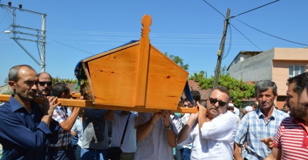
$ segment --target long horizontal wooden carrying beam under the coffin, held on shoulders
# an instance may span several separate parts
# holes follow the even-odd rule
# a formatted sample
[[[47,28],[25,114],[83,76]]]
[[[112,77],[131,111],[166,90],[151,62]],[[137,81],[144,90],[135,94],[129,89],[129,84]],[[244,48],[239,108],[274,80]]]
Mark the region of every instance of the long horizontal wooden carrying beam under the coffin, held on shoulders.
[[[0,101],[8,101],[11,95],[0,95]],[[39,104],[44,104],[45,98],[36,97],[35,101]],[[139,107],[125,107],[125,106],[114,106],[108,104],[94,104],[91,100],[81,99],[65,99],[58,98],[62,106],[70,107],[84,107],[84,108],[96,108],[96,109],[110,109],[110,110],[121,110],[121,111],[137,111],[137,112],[159,112],[161,109],[150,109],[150,108],[139,108]],[[197,108],[184,108],[177,107],[176,110],[172,110],[174,113],[197,113]]]

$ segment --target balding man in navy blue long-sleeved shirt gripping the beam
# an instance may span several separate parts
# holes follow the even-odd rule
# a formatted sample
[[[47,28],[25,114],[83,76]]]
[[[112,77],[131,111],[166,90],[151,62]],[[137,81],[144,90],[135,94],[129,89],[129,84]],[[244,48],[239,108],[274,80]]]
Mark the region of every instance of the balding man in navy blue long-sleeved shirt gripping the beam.
[[[34,101],[38,77],[29,65],[13,66],[8,84],[14,91],[8,102],[0,107],[0,143],[2,160],[43,160],[52,138],[49,124],[54,108],[60,104],[55,97],[45,100],[45,112]]]

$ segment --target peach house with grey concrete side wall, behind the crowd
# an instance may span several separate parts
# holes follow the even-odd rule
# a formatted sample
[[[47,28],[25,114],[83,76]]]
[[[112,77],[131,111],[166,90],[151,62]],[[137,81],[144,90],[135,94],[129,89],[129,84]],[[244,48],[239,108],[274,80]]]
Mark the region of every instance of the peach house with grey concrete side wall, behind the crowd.
[[[289,77],[308,70],[308,48],[273,48],[265,52],[241,51],[227,68],[242,81],[272,80],[277,85],[276,106],[283,107]]]

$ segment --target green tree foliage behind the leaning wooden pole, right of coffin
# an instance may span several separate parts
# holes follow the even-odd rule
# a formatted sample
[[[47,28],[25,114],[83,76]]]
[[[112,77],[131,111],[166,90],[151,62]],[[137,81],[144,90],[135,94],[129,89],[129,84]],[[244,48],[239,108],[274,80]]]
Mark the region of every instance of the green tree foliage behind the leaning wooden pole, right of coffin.
[[[241,106],[242,98],[250,98],[254,97],[254,87],[255,85],[248,85],[243,82],[241,79],[237,80],[229,75],[226,72],[225,67],[221,68],[220,75],[218,78],[218,86],[226,87],[230,95],[233,97],[235,105]],[[198,80],[200,89],[211,89],[214,84],[214,76],[211,76],[208,79],[204,77],[204,71],[201,71],[199,74],[194,73],[190,78],[190,80]]]

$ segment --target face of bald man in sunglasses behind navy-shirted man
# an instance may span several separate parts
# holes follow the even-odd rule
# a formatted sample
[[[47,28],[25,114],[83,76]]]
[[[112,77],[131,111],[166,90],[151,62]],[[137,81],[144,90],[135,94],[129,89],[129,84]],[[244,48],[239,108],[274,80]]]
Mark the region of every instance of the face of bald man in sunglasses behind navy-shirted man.
[[[38,77],[38,81],[41,83],[38,85],[38,95],[50,96],[50,91],[52,89],[51,77],[46,73],[41,73]],[[49,83],[47,84],[47,82]]]

